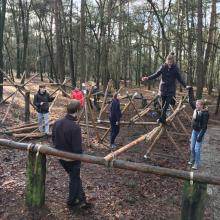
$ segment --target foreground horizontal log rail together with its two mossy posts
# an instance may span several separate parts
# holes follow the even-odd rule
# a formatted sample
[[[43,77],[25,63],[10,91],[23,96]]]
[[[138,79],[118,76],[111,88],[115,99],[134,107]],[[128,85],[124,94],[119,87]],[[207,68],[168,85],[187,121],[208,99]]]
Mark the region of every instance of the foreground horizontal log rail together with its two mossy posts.
[[[111,168],[139,171],[186,180],[183,191],[182,220],[202,219],[207,184],[220,185],[220,178],[215,176],[201,175],[199,173],[116,159],[106,162],[103,157],[59,151],[46,145],[17,143],[6,139],[0,139],[0,145],[28,151],[29,157],[25,201],[26,205],[31,208],[41,207],[45,201],[46,155],[69,160],[80,160],[82,162]],[[41,159],[39,159],[40,155],[42,156]],[[196,218],[192,218],[192,216]]]

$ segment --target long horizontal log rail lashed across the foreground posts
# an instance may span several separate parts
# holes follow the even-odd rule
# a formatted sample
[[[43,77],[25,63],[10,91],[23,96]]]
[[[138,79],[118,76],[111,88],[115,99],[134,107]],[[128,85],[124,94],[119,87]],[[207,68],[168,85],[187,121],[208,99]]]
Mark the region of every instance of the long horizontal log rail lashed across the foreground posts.
[[[9,148],[15,148],[23,151],[27,151],[28,147],[30,146],[29,143],[18,143],[8,139],[0,139],[0,145]],[[109,163],[106,163],[105,159],[100,156],[91,156],[87,154],[74,154],[65,151],[59,151],[53,147],[48,147],[47,145],[31,145],[30,150],[33,152],[39,151],[42,154],[51,155],[63,159],[69,160],[80,160],[82,162],[91,163],[91,164],[98,164],[103,166],[111,166],[119,169],[125,170],[132,170],[132,171],[139,171],[143,173],[151,173],[156,175],[168,176],[173,178],[178,178],[182,180],[190,180],[191,179],[191,172],[177,170],[177,169],[170,169],[158,166],[151,166],[145,163],[134,163],[128,162],[124,160],[113,160]],[[194,182],[201,182],[206,184],[214,184],[220,185],[220,177],[218,176],[211,176],[211,175],[204,175],[200,172],[193,173],[193,181]]]

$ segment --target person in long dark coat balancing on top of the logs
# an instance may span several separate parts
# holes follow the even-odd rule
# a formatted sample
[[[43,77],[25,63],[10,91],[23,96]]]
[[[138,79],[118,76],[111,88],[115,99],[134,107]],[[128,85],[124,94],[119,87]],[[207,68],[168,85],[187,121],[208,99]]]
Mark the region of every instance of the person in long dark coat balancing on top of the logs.
[[[180,70],[175,61],[173,53],[169,54],[163,64],[156,73],[151,76],[142,78],[142,81],[156,79],[161,77],[159,86],[159,95],[162,98],[162,112],[158,119],[159,123],[166,122],[166,112],[170,104],[175,104],[174,97],[176,95],[176,80],[186,88],[186,83],[180,75]]]

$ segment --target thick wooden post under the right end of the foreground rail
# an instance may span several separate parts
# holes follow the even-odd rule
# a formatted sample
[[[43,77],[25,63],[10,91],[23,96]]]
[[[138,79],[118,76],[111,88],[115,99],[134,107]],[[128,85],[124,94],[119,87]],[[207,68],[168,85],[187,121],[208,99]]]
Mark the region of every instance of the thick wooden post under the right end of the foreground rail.
[[[182,196],[181,220],[202,220],[207,203],[207,184],[185,181]]]

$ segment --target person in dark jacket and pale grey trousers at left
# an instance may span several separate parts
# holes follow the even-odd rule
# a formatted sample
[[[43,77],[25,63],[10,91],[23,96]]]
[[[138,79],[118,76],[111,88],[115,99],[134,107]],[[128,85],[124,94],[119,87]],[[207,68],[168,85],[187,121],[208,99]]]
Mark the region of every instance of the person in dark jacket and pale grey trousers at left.
[[[51,97],[46,91],[46,86],[39,85],[39,90],[34,95],[34,105],[38,112],[39,130],[44,134],[49,134],[49,102],[53,100],[54,97]]]

